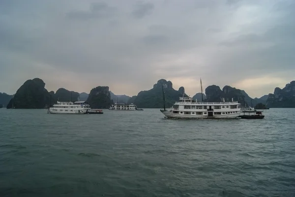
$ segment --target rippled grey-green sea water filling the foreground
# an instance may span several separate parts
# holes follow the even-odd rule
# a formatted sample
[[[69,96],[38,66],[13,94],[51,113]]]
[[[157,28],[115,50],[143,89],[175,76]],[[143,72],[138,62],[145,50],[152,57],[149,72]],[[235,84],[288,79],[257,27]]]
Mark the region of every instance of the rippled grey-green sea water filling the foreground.
[[[265,114],[0,109],[0,197],[295,197],[295,109]]]

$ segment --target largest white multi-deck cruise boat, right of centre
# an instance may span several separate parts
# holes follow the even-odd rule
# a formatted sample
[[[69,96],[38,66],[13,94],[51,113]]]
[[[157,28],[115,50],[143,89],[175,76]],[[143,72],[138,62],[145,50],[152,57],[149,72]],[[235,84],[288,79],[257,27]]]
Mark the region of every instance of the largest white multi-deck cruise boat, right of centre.
[[[191,97],[179,97],[169,110],[161,112],[167,118],[237,118],[240,115],[238,102],[197,102]]]

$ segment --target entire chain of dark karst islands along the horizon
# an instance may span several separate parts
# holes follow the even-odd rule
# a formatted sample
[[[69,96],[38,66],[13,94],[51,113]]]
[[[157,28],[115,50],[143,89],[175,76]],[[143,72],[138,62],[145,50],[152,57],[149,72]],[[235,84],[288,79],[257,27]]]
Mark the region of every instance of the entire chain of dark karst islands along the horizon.
[[[109,90],[108,86],[97,86],[92,89],[92,95],[82,92],[69,91],[65,88],[59,88],[56,92],[48,92],[45,88],[45,83],[35,78],[27,80],[14,95],[0,93],[0,101],[6,108],[19,108],[19,109],[40,109],[48,107],[59,101],[89,101],[91,105],[99,108],[108,108],[113,103],[127,103],[135,104],[139,108],[162,108],[163,95],[162,84],[165,91],[165,106],[170,108],[179,97],[187,96],[184,87],[179,87],[178,90],[173,88],[171,81],[160,79],[149,90],[140,91],[136,96],[115,95]],[[101,94],[100,96],[94,95]],[[90,92],[91,93],[91,92]],[[295,107],[295,81],[281,89],[276,87],[273,94],[264,95],[261,98],[252,99],[244,90],[225,85],[222,89],[217,85],[209,85],[203,93],[203,100],[208,102],[225,101],[238,101],[242,106],[256,106],[257,104],[267,105],[267,107]],[[89,98],[90,97],[90,98]],[[110,97],[110,99],[109,99]],[[5,100],[6,99],[6,100]],[[202,101],[202,93],[196,93],[193,96],[194,100]],[[4,102],[3,102],[4,100]],[[51,103],[50,103],[51,101]]]

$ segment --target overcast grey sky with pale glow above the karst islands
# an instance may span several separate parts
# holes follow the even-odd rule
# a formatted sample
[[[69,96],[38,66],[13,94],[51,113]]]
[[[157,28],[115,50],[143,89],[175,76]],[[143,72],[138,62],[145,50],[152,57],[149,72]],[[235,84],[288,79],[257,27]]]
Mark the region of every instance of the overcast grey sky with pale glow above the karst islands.
[[[0,0],[0,92],[26,80],[137,95],[159,79],[193,96],[251,97],[295,80],[294,0]]]

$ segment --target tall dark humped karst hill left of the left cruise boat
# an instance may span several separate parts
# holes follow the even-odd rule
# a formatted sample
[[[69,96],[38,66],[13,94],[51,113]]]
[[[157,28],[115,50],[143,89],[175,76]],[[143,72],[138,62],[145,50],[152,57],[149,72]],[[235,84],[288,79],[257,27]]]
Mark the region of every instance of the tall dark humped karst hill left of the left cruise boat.
[[[7,109],[42,109],[50,103],[50,94],[45,83],[35,78],[26,81],[9,101]]]

